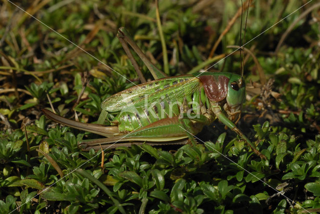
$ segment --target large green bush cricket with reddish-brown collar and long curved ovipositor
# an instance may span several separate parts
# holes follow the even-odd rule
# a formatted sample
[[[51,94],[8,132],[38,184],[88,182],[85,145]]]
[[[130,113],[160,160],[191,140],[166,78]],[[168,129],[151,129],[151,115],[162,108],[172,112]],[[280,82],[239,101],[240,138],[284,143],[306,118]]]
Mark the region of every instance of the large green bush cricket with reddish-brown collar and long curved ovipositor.
[[[243,138],[257,155],[265,158],[233,122],[239,119],[245,98],[242,76],[203,72],[166,77],[147,59],[123,27],[118,29],[117,37],[142,82],[145,80],[126,43],[139,55],[155,80],[132,86],[102,101],[98,124],[73,121],[42,109],[56,122],[107,137],[81,141],[81,148],[129,146],[132,141],[151,145],[185,143],[190,135],[197,134],[204,125],[218,118]],[[110,126],[103,125],[105,120]]]

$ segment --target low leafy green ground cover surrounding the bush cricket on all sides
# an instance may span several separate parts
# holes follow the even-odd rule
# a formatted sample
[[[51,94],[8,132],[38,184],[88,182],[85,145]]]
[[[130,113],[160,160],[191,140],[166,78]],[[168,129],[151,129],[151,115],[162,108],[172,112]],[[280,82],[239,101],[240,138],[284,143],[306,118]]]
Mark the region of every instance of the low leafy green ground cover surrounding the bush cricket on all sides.
[[[241,43],[240,1],[160,0],[164,64],[153,0],[13,1],[38,20],[3,0],[0,213],[319,212],[320,4],[307,2],[254,0],[249,7],[238,127],[263,160],[218,121],[197,135],[196,146],[82,151],[80,139],[98,136],[40,111],[53,107],[94,122],[102,100],[139,83],[115,36],[120,26],[169,75],[206,69]],[[239,73],[240,61],[235,52],[209,71]]]

